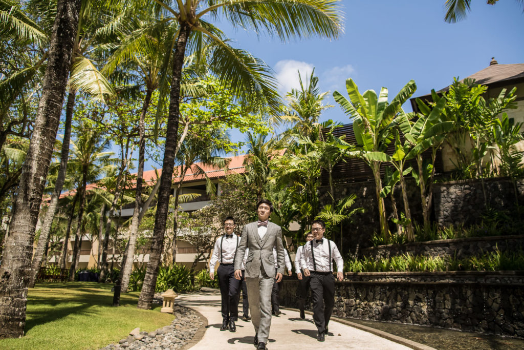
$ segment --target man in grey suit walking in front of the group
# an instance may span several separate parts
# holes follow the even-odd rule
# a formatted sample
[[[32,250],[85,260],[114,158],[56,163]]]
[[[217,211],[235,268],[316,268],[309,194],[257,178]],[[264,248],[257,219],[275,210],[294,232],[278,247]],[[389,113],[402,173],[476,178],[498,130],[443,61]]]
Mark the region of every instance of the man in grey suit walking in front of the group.
[[[251,322],[255,327],[254,344],[265,349],[271,326],[271,290],[273,283],[282,280],[284,272],[284,248],[280,226],[269,222],[273,205],[267,199],[257,204],[258,221],[244,226],[242,238],[235,256],[235,278],[241,279],[242,261],[249,248],[245,263],[245,281]],[[277,248],[278,268],[275,272],[273,247]]]

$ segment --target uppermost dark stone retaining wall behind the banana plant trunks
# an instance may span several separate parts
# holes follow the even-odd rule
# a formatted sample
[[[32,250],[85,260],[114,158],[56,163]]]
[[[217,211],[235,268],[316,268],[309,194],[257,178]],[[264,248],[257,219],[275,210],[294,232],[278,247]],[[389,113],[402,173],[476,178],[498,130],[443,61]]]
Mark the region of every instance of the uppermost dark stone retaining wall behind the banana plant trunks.
[[[414,222],[422,222],[422,209],[420,201],[419,187],[408,178],[407,196],[410,203],[411,215]],[[507,210],[515,206],[515,190],[513,183],[508,178],[486,179],[484,182],[488,205],[497,210]],[[329,187],[319,188],[321,204],[331,203]],[[524,203],[524,180],[517,181],[517,193],[519,203]],[[379,232],[378,210],[375,198],[375,182],[359,182],[335,185],[335,199],[356,194],[357,198],[353,208],[362,207],[364,213],[357,213],[353,217],[351,224],[343,227],[344,245],[343,253],[347,251],[354,253],[356,246],[366,248],[372,246],[371,237],[374,232]],[[402,213],[403,201],[399,186],[395,188],[397,209]],[[388,215],[389,229],[396,230],[391,222],[392,204],[388,197],[385,198],[386,213]],[[474,224],[485,209],[484,194],[482,183],[478,180],[454,181],[438,183],[433,187],[433,204],[431,208],[431,220],[440,226],[451,226],[459,224]],[[335,237],[335,242],[339,244],[340,238]]]

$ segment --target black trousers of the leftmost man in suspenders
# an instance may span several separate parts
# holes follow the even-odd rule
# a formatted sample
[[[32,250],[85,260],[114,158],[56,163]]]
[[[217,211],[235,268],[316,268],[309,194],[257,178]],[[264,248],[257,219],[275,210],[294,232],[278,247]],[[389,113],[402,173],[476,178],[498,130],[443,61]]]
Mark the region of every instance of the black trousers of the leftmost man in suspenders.
[[[230,321],[238,320],[237,292],[240,281],[235,278],[233,264],[221,264],[216,270],[219,277],[220,294],[222,296],[222,317]]]

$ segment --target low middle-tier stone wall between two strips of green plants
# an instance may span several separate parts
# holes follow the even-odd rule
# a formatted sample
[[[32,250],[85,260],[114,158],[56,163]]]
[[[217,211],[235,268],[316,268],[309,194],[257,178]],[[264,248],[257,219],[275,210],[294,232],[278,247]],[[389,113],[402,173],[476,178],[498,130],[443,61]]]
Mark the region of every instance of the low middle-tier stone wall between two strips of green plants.
[[[362,249],[361,254],[369,258],[389,258],[405,253],[429,257],[455,257],[457,259],[482,255],[499,250],[517,251],[524,249],[524,235],[471,237],[429,242],[413,242],[403,245],[386,245]]]

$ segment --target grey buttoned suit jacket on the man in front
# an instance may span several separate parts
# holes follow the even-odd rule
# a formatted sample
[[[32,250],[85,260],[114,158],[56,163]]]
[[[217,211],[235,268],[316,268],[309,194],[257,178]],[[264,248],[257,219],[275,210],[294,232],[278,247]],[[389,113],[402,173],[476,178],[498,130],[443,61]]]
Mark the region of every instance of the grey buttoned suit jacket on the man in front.
[[[277,247],[278,271],[284,273],[284,247],[282,245],[282,229],[280,226],[268,222],[267,232],[262,239],[258,236],[257,222],[250,222],[244,226],[242,238],[238,243],[235,256],[235,270],[240,270],[246,248],[249,253],[246,260],[245,277],[256,278],[260,273],[260,265],[264,267],[269,277],[275,278],[275,258],[273,247]]]

